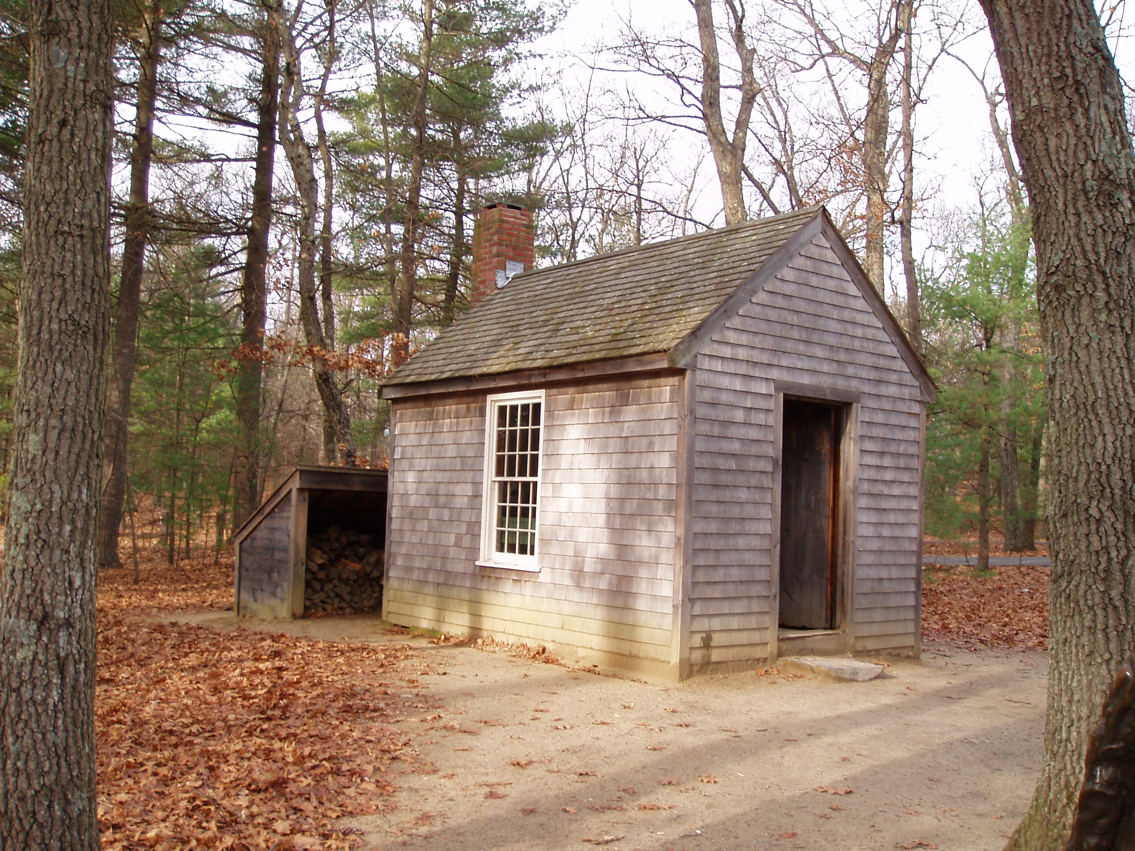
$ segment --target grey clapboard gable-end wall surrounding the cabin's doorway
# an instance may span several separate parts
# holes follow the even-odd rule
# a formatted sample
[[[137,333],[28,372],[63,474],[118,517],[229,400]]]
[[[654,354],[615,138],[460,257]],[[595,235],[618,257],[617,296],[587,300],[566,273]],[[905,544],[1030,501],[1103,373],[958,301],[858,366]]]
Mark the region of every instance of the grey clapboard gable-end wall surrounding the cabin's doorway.
[[[849,632],[865,649],[916,647],[922,388],[823,236],[703,343],[696,369],[691,664],[768,652],[775,381],[859,394]]]

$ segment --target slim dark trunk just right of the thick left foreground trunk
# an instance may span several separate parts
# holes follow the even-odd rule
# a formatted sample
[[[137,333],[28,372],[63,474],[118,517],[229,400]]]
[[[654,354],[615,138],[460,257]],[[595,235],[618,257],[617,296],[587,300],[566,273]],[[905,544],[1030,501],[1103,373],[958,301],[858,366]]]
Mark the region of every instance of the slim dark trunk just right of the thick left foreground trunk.
[[[99,517],[99,565],[120,567],[118,530],[126,500],[129,441],[131,390],[137,364],[138,303],[142,272],[150,238],[150,163],[153,160],[153,113],[158,103],[158,65],[161,62],[161,25],[165,9],[154,2],[142,18],[142,60],[138,65],[137,110],[134,116],[134,146],[131,150],[131,200],[126,204],[126,244],[123,275],[115,313],[115,389],[107,412],[110,474],[102,491]]]

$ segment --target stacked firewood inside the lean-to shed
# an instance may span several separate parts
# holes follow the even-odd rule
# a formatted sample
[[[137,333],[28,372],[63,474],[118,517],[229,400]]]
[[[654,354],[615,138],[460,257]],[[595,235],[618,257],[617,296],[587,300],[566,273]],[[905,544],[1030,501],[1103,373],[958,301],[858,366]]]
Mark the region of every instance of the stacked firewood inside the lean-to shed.
[[[353,615],[382,607],[382,551],[375,536],[333,525],[308,537],[304,612]]]

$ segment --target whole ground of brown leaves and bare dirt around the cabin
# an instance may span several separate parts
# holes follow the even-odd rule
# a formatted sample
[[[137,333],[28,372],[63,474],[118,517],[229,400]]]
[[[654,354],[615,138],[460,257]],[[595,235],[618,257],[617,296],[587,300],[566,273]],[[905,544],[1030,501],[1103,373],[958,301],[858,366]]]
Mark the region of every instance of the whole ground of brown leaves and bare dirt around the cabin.
[[[230,570],[100,578],[104,849],[968,851],[1039,766],[1046,567],[927,570],[923,658],[875,681],[679,685],[368,617],[242,629]]]

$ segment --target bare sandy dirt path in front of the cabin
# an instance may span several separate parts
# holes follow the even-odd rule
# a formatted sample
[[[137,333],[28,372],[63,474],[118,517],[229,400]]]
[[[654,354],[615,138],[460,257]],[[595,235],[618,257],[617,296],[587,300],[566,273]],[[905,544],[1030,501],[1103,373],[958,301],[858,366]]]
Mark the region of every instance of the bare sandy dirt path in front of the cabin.
[[[402,640],[363,621],[287,631]],[[666,688],[411,643],[400,728],[420,761],[396,778],[395,812],[354,823],[380,851],[611,837],[612,851],[985,851],[1023,815],[1040,761],[1039,651],[932,644],[867,683],[734,674]]]

